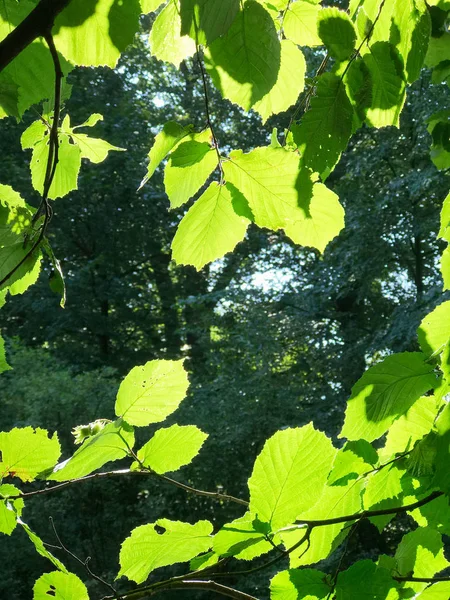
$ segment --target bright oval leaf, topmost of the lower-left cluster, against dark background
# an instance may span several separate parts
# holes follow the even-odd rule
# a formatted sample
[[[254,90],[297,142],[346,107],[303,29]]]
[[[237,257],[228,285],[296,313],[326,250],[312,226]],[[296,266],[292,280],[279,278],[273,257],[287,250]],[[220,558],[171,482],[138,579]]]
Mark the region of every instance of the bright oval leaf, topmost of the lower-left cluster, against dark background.
[[[185,398],[189,381],[182,360],[151,360],[122,381],[115,411],[131,425],[160,423]]]

